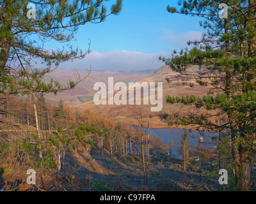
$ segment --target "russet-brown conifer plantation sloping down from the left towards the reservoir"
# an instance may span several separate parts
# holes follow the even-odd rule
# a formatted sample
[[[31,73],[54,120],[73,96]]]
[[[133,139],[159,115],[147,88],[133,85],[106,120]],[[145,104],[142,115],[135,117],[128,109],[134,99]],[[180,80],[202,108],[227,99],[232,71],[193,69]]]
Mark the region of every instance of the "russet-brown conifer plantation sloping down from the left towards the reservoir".
[[[81,168],[76,161],[79,152],[85,152],[86,163],[95,160],[87,154],[97,152],[100,159],[108,159],[106,164],[111,162],[119,166],[118,163],[124,162],[141,166],[143,159],[156,163],[158,158],[167,157],[170,149],[157,136],[141,135],[140,129],[132,129],[127,124],[101,117],[90,110],[77,112],[63,105],[62,101],[54,105],[44,98],[35,101],[15,96],[2,95],[1,98],[1,111],[6,113],[1,116],[0,164],[4,175],[7,175],[5,179],[10,179],[5,186],[6,191],[28,190],[25,180],[19,183],[13,182],[13,179],[22,179],[29,168],[34,168],[42,174],[41,178],[47,180],[46,183],[49,182],[41,186],[36,184],[32,190],[49,190],[55,186],[54,189],[60,191],[63,189],[61,185],[67,185]],[[36,105],[37,120],[33,105]],[[150,157],[143,155],[147,151]],[[88,187],[93,188],[92,173],[90,170],[83,171],[85,173],[81,178],[76,175],[72,190],[80,188],[89,191]],[[105,172],[104,169],[100,171]],[[54,185],[50,187],[50,184]],[[125,186],[127,184],[122,185],[123,189],[133,189]]]

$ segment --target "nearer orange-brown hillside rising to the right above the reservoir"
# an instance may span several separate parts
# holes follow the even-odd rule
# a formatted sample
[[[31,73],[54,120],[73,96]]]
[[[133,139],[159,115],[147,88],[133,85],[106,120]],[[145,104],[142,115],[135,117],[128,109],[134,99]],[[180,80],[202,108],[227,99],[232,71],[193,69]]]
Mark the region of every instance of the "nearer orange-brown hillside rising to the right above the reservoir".
[[[198,66],[192,66],[188,69],[189,73],[195,73],[197,71]],[[122,121],[131,125],[137,124],[137,121],[134,119],[134,112],[141,108],[144,112],[147,112],[152,116],[155,115],[155,117],[150,119],[150,128],[167,128],[168,124],[166,123],[166,120],[162,120],[161,118],[157,117],[157,115],[161,113],[170,113],[172,110],[180,110],[181,107],[178,104],[167,104],[165,102],[166,96],[187,96],[192,94],[194,96],[203,96],[207,93],[207,91],[209,91],[208,87],[199,86],[195,83],[195,80],[189,81],[189,83],[194,84],[193,87],[182,85],[182,83],[179,82],[175,76],[177,76],[177,73],[172,71],[170,66],[164,65],[163,67],[154,71],[154,73],[151,73],[147,77],[140,80],[141,83],[163,82],[163,110],[161,112],[150,112],[151,105],[95,105],[93,101],[76,105],[75,107],[79,110],[85,110],[88,108],[93,112],[97,112],[105,117]],[[170,78],[170,83],[166,82],[166,77]],[[129,96],[128,92],[127,96]],[[143,99],[141,99],[141,103],[143,103]]]

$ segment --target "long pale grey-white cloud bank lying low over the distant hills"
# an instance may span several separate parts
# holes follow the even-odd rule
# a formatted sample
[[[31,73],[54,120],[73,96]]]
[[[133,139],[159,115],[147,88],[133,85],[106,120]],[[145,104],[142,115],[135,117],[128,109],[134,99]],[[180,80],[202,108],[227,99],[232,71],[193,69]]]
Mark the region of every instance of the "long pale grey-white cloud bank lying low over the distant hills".
[[[145,70],[158,69],[163,66],[159,56],[168,57],[168,53],[145,54],[141,52],[130,52],[127,50],[115,50],[113,52],[100,53],[91,52],[84,59],[73,62],[65,62],[60,68],[88,69],[90,64],[92,70]]]

